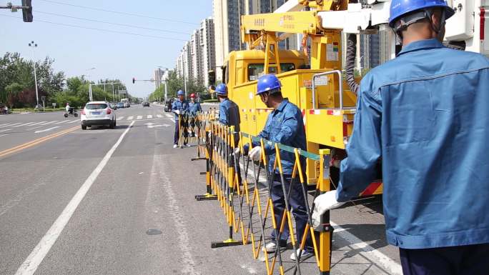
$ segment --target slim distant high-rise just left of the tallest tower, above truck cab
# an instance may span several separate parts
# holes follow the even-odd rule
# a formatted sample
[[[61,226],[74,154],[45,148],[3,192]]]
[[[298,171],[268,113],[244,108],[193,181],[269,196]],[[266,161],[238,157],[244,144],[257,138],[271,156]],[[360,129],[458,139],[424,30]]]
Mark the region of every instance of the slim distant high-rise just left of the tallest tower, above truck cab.
[[[209,71],[216,69],[216,49],[214,46],[214,20],[212,17],[200,22],[200,43],[202,49],[202,75],[204,86],[209,85]]]

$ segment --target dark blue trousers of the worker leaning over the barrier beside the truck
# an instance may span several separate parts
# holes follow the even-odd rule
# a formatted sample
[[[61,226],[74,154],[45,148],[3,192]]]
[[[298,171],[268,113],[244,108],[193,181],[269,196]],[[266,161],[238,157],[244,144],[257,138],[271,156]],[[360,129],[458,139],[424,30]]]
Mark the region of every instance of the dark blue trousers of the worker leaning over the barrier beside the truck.
[[[289,191],[291,175],[284,175],[285,179],[285,191]],[[282,223],[282,216],[285,210],[285,195],[282,191],[282,184],[280,182],[280,174],[275,174],[272,184],[270,184],[270,191],[272,193],[273,211],[275,211],[275,221],[277,221],[277,229],[280,229]],[[307,224],[307,211],[304,195],[302,194],[302,188],[300,186],[299,179],[294,179],[292,183],[292,190],[290,191],[289,206],[292,208],[292,215],[295,219],[296,226],[296,241],[300,245],[302,236],[304,235],[304,229]],[[285,221],[285,228],[280,235],[280,245],[285,246],[287,239],[289,239],[290,231],[287,221]],[[276,240],[276,232],[272,231],[272,239]],[[310,236],[307,236],[305,250],[313,251],[312,240]]]

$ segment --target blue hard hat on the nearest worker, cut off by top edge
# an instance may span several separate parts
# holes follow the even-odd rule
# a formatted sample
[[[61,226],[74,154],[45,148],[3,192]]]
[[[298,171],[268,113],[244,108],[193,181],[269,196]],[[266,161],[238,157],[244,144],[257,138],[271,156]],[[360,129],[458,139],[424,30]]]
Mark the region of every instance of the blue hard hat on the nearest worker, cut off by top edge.
[[[401,16],[419,9],[444,8],[445,19],[449,19],[455,11],[447,5],[445,0],[392,0],[390,2],[389,25],[393,26]]]

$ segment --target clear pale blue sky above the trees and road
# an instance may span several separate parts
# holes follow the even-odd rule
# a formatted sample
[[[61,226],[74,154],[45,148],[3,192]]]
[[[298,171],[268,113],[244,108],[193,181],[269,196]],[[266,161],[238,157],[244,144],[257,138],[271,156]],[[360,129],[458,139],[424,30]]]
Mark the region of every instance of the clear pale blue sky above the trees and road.
[[[10,1],[14,5],[21,4],[20,0]],[[6,0],[0,0],[0,4],[6,4]],[[90,6],[146,17],[115,14],[70,5]],[[32,0],[32,6],[34,11],[34,22],[32,23],[22,21],[21,11],[11,13],[9,10],[0,9],[0,54],[2,56],[7,51],[16,51],[26,59],[31,59],[32,51],[28,44],[29,41],[34,40],[38,44],[36,59],[44,59],[46,56],[55,59],[54,69],[64,71],[66,76],[90,74],[92,80],[119,78],[126,84],[129,93],[139,97],[151,93],[154,90],[154,84],[142,81],[132,84],[132,77],[150,79],[152,71],[157,66],[172,69],[184,41],[189,40],[190,34],[199,27],[202,19],[212,16],[212,0]],[[105,24],[53,14],[142,26],[149,29]],[[110,31],[81,29],[61,24]],[[150,29],[174,31],[178,34]],[[111,31],[145,36],[119,34]],[[159,36],[159,38],[147,36]],[[92,67],[96,69],[87,71]]]

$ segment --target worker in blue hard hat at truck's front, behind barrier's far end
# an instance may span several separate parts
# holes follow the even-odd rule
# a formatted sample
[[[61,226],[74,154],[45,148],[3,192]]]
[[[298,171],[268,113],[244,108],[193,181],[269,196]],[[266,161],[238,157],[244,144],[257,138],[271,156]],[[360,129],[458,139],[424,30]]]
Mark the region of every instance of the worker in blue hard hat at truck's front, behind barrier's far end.
[[[234,152],[236,154],[236,160],[239,164],[239,124],[241,119],[239,117],[239,107],[234,101],[227,97],[226,84],[219,84],[216,87],[217,99],[219,100],[219,123],[226,126],[234,126]],[[234,156],[229,156],[229,166],[234,166]],[[241,169],[239,165],[234,166],[238,175],[238,183],[241,184]]]

